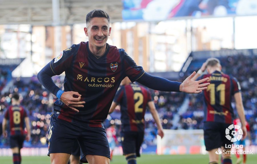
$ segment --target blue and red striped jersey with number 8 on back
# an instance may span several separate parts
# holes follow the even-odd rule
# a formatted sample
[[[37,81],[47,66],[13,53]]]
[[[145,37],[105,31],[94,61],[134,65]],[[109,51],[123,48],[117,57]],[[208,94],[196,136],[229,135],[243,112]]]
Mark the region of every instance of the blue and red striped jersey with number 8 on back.
[[[27,112],[21,105],[11,105],[5,111],[5,119],[9,120],[10,135],[24,135],[25,117]]]

